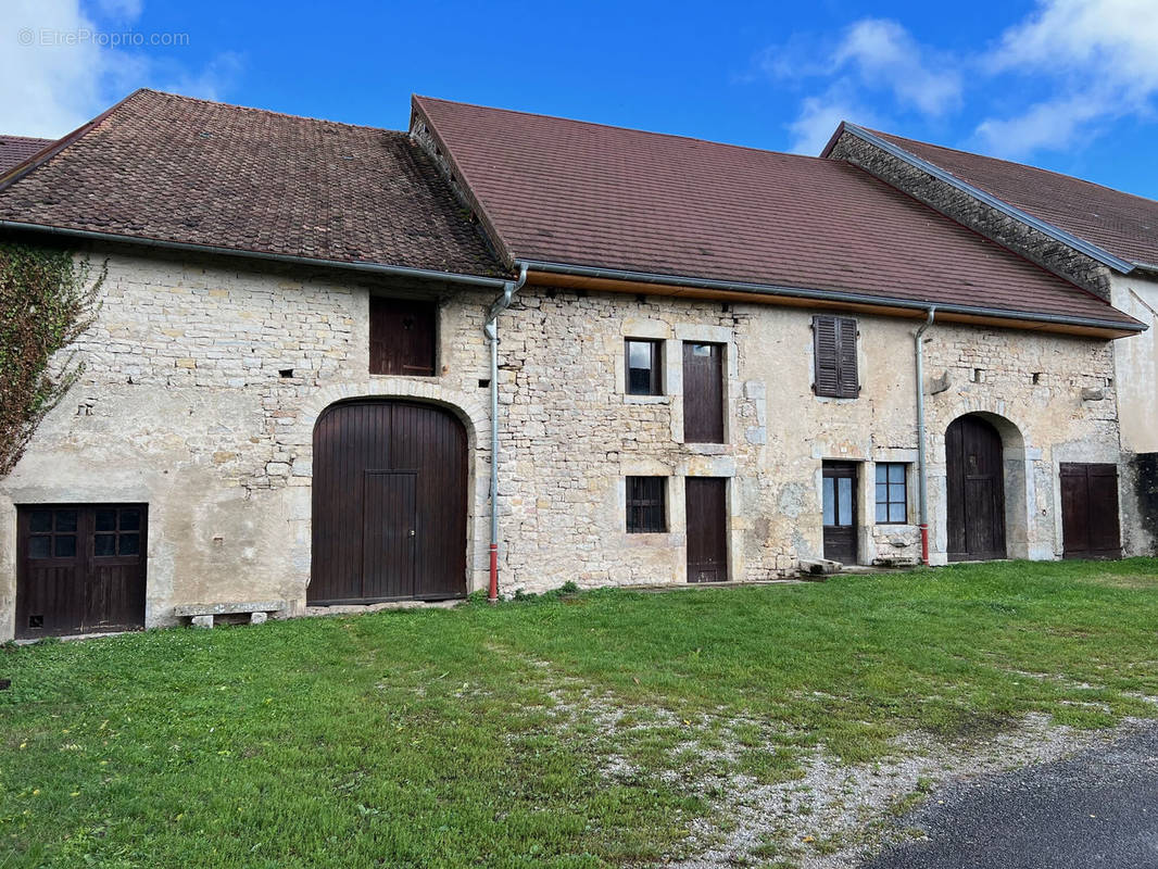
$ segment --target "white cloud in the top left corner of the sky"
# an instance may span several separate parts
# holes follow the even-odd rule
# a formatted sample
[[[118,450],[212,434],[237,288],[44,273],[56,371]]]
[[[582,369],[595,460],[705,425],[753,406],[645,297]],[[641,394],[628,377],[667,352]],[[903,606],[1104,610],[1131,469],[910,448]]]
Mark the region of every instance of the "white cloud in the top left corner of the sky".
[[[140,12],[140,0],[96,0],[88,8],[79,0],[5,0],[0,133],[57,138],[139,87],[219,98],[239,78],[239,54],[219,54],[191,70],[171,54],[116,49],[93,37],[102,21],[123,32]]]

